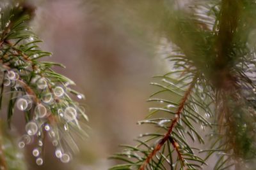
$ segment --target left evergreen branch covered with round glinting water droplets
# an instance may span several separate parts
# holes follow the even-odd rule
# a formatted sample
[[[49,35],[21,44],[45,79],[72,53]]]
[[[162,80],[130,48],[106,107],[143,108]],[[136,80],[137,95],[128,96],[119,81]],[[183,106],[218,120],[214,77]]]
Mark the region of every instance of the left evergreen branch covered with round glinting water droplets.
[[[6,122],[10,127],[16,108],[22,111],[20,119],[26,120],[26,134],[18,145],[24,148],[36,143],[33,150],[36,164],[44,162],[47,138],[56,148],[56,157],[67,163],[78,150],[74,136],[87,136],[88,118],[83,107],[74,101],[74,96],[78,99],[84,96],[70,89],[74,81],[53,70],[54,66],[64,67],[62,64],[43,60],[51,53],[40,49],[38,43],[42,40],[33,34],[28,23],[35,9],[17,2],[0,2],[0,103],[8,101]],[[22,153],[15,149],[16,143],[4,128],[0,144],[0,169],[26,169]]]

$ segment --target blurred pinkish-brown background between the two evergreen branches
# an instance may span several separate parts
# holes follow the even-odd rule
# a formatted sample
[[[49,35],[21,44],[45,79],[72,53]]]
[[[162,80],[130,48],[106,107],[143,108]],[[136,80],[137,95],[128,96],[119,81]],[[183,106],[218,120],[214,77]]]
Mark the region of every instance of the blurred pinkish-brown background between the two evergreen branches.
[[[36,6],[33,31],[44,40],[42,49],[53,52],[47,60],[61,62],[55,68],[76,82],[74,89],[86,96],[86,112],[92,131],[86,141],[77,139],[81,152],[63,164],[46,147],[43,166],[36,166],[26,148],[29,169],[104,170],[115,164],[108,157],[120,144],[132,144],[145,127],[136,125],[147,116],[146,102],[152,76],[164,73],[164,60],[156,55],[159,41],[147,19],[156,19],[153,1],[31,1]],[[154,8],[154,11],[150,11]],[[143,18],[143,19],[141,19]],[[143,20],[143,23],[141,21]],[[154,23],[157,25],[157,23]],[[164,39],[162,39],[164,41]],[[16,117],[16,122],[19,122]],[[19,125],[18,125],[19,126]],[[20,126],[23,125],[20,123]],[[19,129],[19,127],[16,127]],[[22,132],[21,132],[22,133]]]

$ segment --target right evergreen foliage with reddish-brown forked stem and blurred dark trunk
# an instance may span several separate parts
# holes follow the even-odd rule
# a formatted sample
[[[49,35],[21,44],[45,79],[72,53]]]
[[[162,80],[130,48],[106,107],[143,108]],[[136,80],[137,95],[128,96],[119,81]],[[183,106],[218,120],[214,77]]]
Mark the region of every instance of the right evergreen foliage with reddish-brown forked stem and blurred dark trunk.
[[[156,131],[122,145],[111,169],[254,169],[255,1],[160,3],[172,71],[151,83],[154,107],[138,122]]]

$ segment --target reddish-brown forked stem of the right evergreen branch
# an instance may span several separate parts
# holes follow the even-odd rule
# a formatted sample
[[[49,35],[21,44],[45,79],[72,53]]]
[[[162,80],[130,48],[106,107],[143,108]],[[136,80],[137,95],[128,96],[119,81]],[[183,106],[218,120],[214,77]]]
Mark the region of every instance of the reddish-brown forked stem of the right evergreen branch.
[[[141,166],[139,168],[140,170],[144,170],[145,169],[147,164],[149,164],[150,160],[153,159],[154,155],[156,155],[156,153],[162,148],[164,143],[166,143],[166,141],[168,139],[170,139],[170,135],[172,134],[173,128],[175,127],[175,125],[177,125],[177,122],[180,119],[180,114],[181,114],[181,112],[182,112],[182,110],[183,110],[183,108],[185,106],[186,101],[188,100],[189,94],[191,94],[191,91],[192,91],[193,87],[195,86],[197,78],[198,77],[195,76],[193,78],[193,80],[191,81],[191,84],[189,85],[188,90],[186,91],[186,93],[184,94],[182,100],[179,103],[179,108],[178,108],[178,110],[175,113],[175,118],[172,120],[172,124],[170,125],[168,131],[164,134],[163,138],[155,146],[154,150],[152,150],[152,152],[148,155],[147,159],[143,162],[143,164],[141,164]],[[172,141],[173,142],[171,142],[171,143],[173,145],[173,148],[175,148],[176,152],[179,155],[179,159],[182,162],[181,164],[182,164],[182,166],[184,166],[184,159],[183,159],[181,153],[179,152],[179,145],[174,140],[172,140]]]

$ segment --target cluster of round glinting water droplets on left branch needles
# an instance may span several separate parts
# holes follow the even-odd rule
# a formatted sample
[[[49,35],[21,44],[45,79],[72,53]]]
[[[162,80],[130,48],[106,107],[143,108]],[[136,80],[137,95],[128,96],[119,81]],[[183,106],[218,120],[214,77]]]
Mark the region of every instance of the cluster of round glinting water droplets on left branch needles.
[[[4,79],[8,81],[4,85],[10,85],[10,81],[17,80],[17,74],[14,71],[8,71],[6,73],[6,78]],[[5,81],[4,81],[5,82]],[[65,90],[61,86],[54,86],[51,90],[49,88],[49,81],[46,78],[42,78],[40,76],[35,76],[31,83],[35,84],[37,90],[41,90],[40,100],[35,100],[37,96],[24,95],[18,97],[15,105],[20,111],[31,111],[33,113],[33,118],[26,124],[25,130],[26,134],[22,136],[19,141],[19,147],[24,148],[24,146],[28,145],[33,141],[33,138],[36,137],[38,140],[38,145],[33,149],[33,156],[36,157],[36,164],[39,166],[44,163],[43,155],[42,155],[42,146],[43,138],[46,136],[51,139],[52,145],[56,147],[55,155],[61,162],[67,163],[70,161],[70,154],[63,150],[63,147],[60,143],[60,134],[57,134],[58,125],[53,124],[54,127],[51,127],[50,124],[47,124],[49,121],[48,118],[51,115],[56,115],[63,122],[64,125],[61,125],[64,132],[68,131],[68,123],[77,121],[77,106],[72,104],[68,104],[67,102],[63,102],[60,104],[56,102],[56,99],[63,99],[65,96]],[[81,99],[82,95],[77,95],[79,99]],[[51,109],[55,107],[59,107],[56,110],[56,113],[51,113]],[[44,135],[43,135],[44,134]]]

